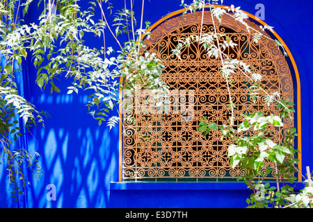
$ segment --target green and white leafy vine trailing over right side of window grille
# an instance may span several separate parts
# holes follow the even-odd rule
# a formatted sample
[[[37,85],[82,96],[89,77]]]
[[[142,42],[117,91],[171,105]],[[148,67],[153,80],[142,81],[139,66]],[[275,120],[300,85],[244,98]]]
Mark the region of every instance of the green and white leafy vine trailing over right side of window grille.
[[[234,144],[228,147],[228,155],[230,158],[230,164],[233,168],[240,167],[244,169],[246,174],[239,176],[238,180],[243,180],[247,187],[252,191],[250,198],[247,198],[248,207],[310,207],[312,203],[312,186],[311,186],[311,172],[307,170],[307,180],[300,171],[296,168],[298,159],[296,159],[298,150],[294,148],[294,138],[296,137],[296,128],[291,127],[287,130],[284,141],[280,144],[273,142],[271,138],[271,132],[268,131],[268,126],[282,127],[284,126],[284,119],[293,119],[294,103],[291,103],[288,99],[283,101],[280,99],[280,93],[274,92],[268,93],[264,87],[260,84],[262,81],[262,75],[255,73],[253,67],[247,65],[243,61],[229,58],[222,48],[234,47],[236,44],[227,38],[224,42],[219,42],[220,33],[217,32],[216,24],[221,22],[223,15],[230,16],[236,21],[245,25],[247,31],[252,34],[252,41],[258,43],[259,39],[263,36],[273,41],[275,45],[282,50],[284,56],[288,56],[284,45],[278,40],[273,40],[271,37],[264,35],[263,33],[248,26],[245,19],[248,19],[248,15],[240,10],[240,7],[235,8],[232,6],[226,6],[223,8],[216,7],[208,1],[193,1],[191,5],[182,5],[186,10],[204,11],[205,5],[208,4],[211,10],[211,19],[214,25],[213,33],[200,33],[199,37],[192,37],[195,42],[203,44],[204,49],[207,50],[209,56],[214,56],[216,59],[220,59],[222,67],[220,68],[220,75],[223,76],[227,83],[227,91],[229,95],[229,108],[230,108],[230,125],[220,126],[217,128],[216,123],[208,123],[204,117],[200,121],[198,131],[204,131],[203,135],[207,135],[210,130],[221,130],[220,140],[223,141],[225,137],[229,137],[233,140]],[[215,24],[216,23],[216,24]],[[202,25],[202,24],[201,24]],[[260,26],[262,31],[272,30],[271,26]],[[177,45],[177,48],[173,53],[179,56],[182,46],[188,46],[190,39],[186,38],[182,40],[182,44]],[[277,104],[276,109],[279,110],[279,116],[274,115],[271,112],[256,111],[252,114],[243,114],[243,121],[239,124],[238,128],[234,126],[234,109],[236,106],[232,102],[232,74],[235,71],[239,71],[243,76],[246,76],[250,80],[250,101],[255,103],[257,98],[263,96],[260,101],[264,101],[266,105],[273,103]],[[244,132],[255,132],[253,135]],[[239,133],[243,132],[242,136]],[[274,167],[266,167],[266,174],[262,173],[261,169],[264,167],[265,161],[271,161],[274,163]],[[300,191],[299,194],[295,194],[294,187],[289,186],[296,181],[294,176],[296,173],[300,173],[305,180],[305,188]],[[271,186],[269,182],[264,182],[264,176],[272,174],[276,181],[276,186]],[[283,182],[283,186],[280,183]]]

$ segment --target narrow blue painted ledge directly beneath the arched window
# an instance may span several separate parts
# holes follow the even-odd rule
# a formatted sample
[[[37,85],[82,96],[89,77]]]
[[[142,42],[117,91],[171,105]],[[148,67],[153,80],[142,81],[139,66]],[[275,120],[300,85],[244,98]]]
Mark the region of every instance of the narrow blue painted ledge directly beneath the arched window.
[[[275,182],[270,183],[276,187]],[[291,186],[291,185],[289,185]],[[295,182],[295,190],[303,189]],[[111,190],[247,190],[244,182],[111,182]]]

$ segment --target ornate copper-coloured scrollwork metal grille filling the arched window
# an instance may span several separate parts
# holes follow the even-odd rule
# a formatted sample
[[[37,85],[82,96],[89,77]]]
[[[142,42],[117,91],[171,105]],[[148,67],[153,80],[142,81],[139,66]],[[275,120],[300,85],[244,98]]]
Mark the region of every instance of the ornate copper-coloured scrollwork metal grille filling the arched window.
[[[184,17],[172,17],[159,24],[145,40],[145,49],[163,60],[166,67],[162,78],[176,92],[171,96],[168,115],[154,112],[152,105],[138,107],[134,103],[136,126],[124,122],[122,137],[122,176],[123,180],[234,180],[243,175],[239,168],[232,169],[227,159],[230,139],[220,142],[220,135],[211,131],[203,137],[198,132],[199,121],[207,117],[218,126],[229,124],[227,112],[228,94],[226,82],[219,73],[221,61],[207,55],[203,46],[192,44],[182,51],[179,60],[170,56],[178,40],[188,35],[199,35],[201,12],[189,13]],[[261,31],[254,22],[249,26]],[[211,15],[204,12],[202,33],[213,32]],[[231,37],[238,44],[234,49],[225,49],[232,59],[238,59],[254,67],[263,76],[263,84],[268,92],[280,92],[282,99],[294,99],[291,74],[282,52],[273,41],[262,37],[258,44],[246,27],[230,16],[224,16],[218,24],[218,32]],[[266,34],[267,35],[267,34]],[[220,37],[223,41],[223,37]],[[179,96],[177,96],[179,94]],[[233,78],[232,99],[235,110],[234,123],[241,123],[241,115],[256,110],[275,110],[275,105],[267,107],[264,103],[252,103],[249,98],[249,81],[240,72]],[[134,95],[134,101],[149,98],[147,92]],[[179,99],[178,99],[179,98]],[[183,103],[185,105],[183,105]],[[178,107],[183,105],[184,107]],[[178,112],[177,112],[178,110]],[[293,126],[291,120],[285,121],[285,128]],[[284,136],[284,128],[270,128],[274,141],[279,143]],[[253,132],[251,132],[253,133]],[[271,164],[268,162],[267,164]]]

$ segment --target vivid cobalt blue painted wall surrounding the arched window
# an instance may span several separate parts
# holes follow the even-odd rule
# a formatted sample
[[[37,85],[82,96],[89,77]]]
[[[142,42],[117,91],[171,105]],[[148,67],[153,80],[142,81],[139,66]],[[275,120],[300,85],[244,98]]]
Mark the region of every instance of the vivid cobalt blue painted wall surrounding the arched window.
[[[88,1],[81,1],[86,3]],[[124,6],[124,0],[112,0],[115,8]],[[191,1],[186,1],[189,3]],[[312,1],[224,0],[223,4],[241,6],[255,15],[257,3],[265,6],[265,20],[289,47],[301,83],[303,171],[312,166],[313,146],[312,75],[313,35]],[[39,11],[36,4],[26,16],[33,22]],[[180,9],[178,0],[145,1],[144,21],[152,24],[169,12]],[[135,1],[136,17],[140,17],[141,1]],[[106,43],[116,47],[111,36]],[[122,42],[122,41],[121,41]],[[97,42],[88,42],[97,46]],[[29,178],[29,187],[23,205],[8,194],[6,173],[0,165],[0,207],[246,207],[250,195],[241,183],[118,183],[118,128],[98,127],[87,114],[87,96],[67,95],[69,80],[61,78],[60,94],[41,92],[35,85],[36,71],[31,60],[23,67],[24,94],[38,110],[46,110],[51,118],[45,120],[45,129],[34,128],[26,135],[31,152],[40,153],[42,178]],[[56,200],[47,200],[48,185],[56,186]]]

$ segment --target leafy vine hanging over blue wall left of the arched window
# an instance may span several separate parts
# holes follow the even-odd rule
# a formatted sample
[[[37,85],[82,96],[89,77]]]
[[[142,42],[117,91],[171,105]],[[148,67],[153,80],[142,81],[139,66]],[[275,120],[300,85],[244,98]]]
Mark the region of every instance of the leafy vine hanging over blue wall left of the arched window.
[[[43,117],[47,114],[36,110],[19,92],[17,76],[26,58],[32,58],[38,70],[36,83],[42,91],[60,93],[57,80],[61,76],[72,80],[67,94],[86,90],[88,112],[99,126],[106,121],[111,129],[120,120],[121,114],[107,118],[112,110],[119,112],[119,105],[127,107],[118,98],[120,89],[131,94],[140,86],[139,90],[150,89],[158,99],[168,97],[168,86],[159,78],[163,68],[160,60],[154,54],[140,51],[141,35],[149,35],[149,32],[143,29],[143,19],[140,28],[134,29],[136,19],[132,1],[130,9],[125,7],[114,15],[112,26],[115,30],[106,19],[113,8],[107,0],[90,1],[90,7],[83,11],[79,1],[38,1],[38,7],[42,8],[38,22],[26,24],[22,17],[28,13],[31,3],[33,0],[0,2],[0,152],[6,155],[13,196],[23,194],[24,183],[21,187],[18,182],[24,181],[23,162],[29,163],[29,169],[35,167],[38,176],[41,175],[37,160],[31,161],[39,154],[22,151],[13,140],[18,142],[24,130],[38,123],[44,127]],[[94,21],[96,13],[101,19]],[[145,25],[147,28],[149,23]],[[106,46],[105,31],[113,36],[120,49],[114,51],[112,46]],[[121,44],[118,36],[123,33],[127,33],[129,39]],[[103,40],[103,45],[99,49],[90,48],[84,40],[88,34]],[[124,78],[125,83],[120,83],[120,78]]]

